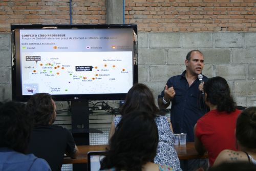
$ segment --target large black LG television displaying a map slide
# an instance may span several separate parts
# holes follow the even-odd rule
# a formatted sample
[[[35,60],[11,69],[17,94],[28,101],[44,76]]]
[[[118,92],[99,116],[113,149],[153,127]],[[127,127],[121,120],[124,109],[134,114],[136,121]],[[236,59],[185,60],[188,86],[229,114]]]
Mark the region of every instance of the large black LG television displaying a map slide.
[[[11,25],[12,98],[117,100],[138,81],[137,25]]]

